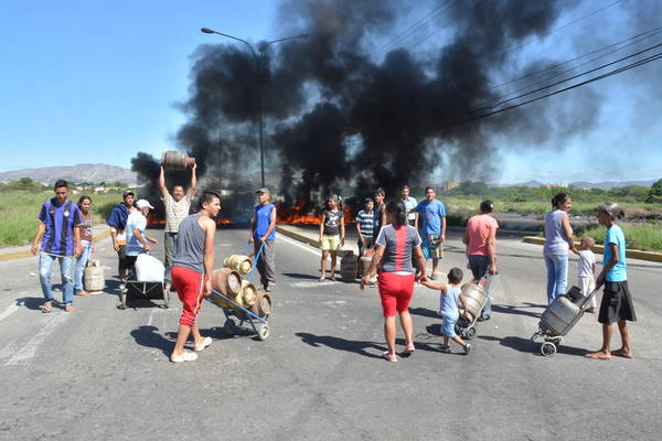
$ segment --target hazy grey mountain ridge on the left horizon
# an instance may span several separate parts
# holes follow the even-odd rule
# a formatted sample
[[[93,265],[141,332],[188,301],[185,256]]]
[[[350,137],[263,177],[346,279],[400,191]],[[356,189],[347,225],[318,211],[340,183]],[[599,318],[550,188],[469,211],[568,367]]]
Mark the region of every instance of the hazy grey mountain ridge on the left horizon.
[[[53,184],[58,179],[70,182],[124,182],[135,184],[138,178],[135,172],[121,166],[108,164],[78,164],[63,166],[44,166],[41,169],[22,169],[0,173],[0,181],[15,181],[31,178],[45,184]]]

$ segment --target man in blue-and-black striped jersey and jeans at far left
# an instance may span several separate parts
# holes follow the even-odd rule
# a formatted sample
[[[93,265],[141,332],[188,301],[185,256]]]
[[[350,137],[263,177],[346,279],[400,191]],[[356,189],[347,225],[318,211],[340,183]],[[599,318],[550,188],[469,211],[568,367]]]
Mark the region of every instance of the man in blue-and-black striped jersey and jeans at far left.
[[[81,256],[81,229],[77,228],[83,218],[76,205],[68,197],[66,181],[55,182],[55,197],[44,201],[39,213],[39,227],[32,241],[32,254],[39,251],[39,278],[45,302],[42,312],[53,310],[53,286],[51,284],[51,269],[55,259],[60,261],[62,277],[62,304],[66,312],[75,308],[74,301],[74,256]],[[42,239],[41,248],[39,241]]]

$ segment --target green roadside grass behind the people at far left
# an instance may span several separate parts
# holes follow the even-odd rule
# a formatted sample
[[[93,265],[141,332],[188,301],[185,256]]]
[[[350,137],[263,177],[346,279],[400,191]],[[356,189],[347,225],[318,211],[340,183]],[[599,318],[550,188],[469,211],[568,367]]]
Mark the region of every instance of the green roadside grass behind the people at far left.
[[[92,197],[93,222],[100,224],[105,222],[113,206],[121,201],[121,194],[88,194]],[[72,194],[74,202],[82,194]],[[39,211],[44,200],[53,197],[53,191],[26,192],[7,191],[0,192],[0,247],[28,245],[34,238],[39,226]]]

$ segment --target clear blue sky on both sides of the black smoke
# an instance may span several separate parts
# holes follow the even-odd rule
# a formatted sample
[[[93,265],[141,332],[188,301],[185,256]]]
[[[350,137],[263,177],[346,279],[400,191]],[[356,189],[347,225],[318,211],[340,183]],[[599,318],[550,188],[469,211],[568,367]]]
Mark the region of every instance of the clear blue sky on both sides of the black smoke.
[[[600,3],[611,0],[585,1],[565,22]],[[191,55],[200,44],[222,40],[201,33],[200,28],[252,42],[278,39],[284,35],[278,32],[277,4],[275,0],[4,0],[0,10],[0,172],[78,163],[130,168],[138,151],[159,157],[173,150],[172,138],[185,121],[177,104],[188,96]],[[631,2],[623,0],[522,52],[544,49],[563,61],[581,53],[584,47],[577,47],[577,42],[587,32],[612,32],[604,44],[631,36],[633,30],[621,20],[628,8]],[[394,34],[426,13],[423,9],[402,11]],[[402,44],[406,46],[407,40]],[[421,50],[435,44],[436,39],[429,39]],[[661,77],[662,61],[640,69],[648,77]],[[662,178],[662,95],[642,87],[642,75],[626,73],[589,86],[600,94],[602,105],[587,133],[558,144],[499,140],[500,162],[491,180]],[[448,170],[436,174],[462,179],[461,173]]]

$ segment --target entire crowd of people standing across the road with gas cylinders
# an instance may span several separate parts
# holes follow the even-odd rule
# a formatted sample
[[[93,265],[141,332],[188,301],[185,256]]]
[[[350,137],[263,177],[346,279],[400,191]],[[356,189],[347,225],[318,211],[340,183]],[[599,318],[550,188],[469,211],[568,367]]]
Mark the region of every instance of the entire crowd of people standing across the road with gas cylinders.
[[[197,314],[203,297],[212,293],[211,276],[214,268],[214,236],[216,223],[213,218],[221,211],[221,196],[212,190],[204,190],[197,200],[197,207],[191,213],[196,191],[196,168],[191,168],[189,189],[174,185],[168,189],[164,171],[161,166],[159,189],[164,205],[164,267],[166,290],[178,292],[182,301],[182,314],[178,340],[170,356],[173,363],[193,361],[196,353],[212,343],[202,337],[197,329]],[[83,286],[83,272],[94,252],[92,235],[92,198],[82,196],[78,203],[68,198],[68,185],[57,181],[54,185],[55,197],[44,201],[39,214],[40,224],[35,234],[32,252],[39,254],[39,275],[44,295],[41,311],[53,310],[53,290],[51,269],[55,260],[60,262],[63,284],[62,308],[66,312],[75,310],[74,295],[88,295]],[[256,191],[257,204],[250,220],[249,241],[259,256],[256,267],[263,288],[270,292],[275,289],[275,235],[276,211],[271,203],[269,189]],[[118,256],[120,289],[125,288],[137,257],[149,252],[157,244],[147,234],[147,217],[153,206],[147,200],[137,200],[132,192],[122,195],[122,203],[115,207],[108,218],[113,247]],[[566,294],[568,273],[568,252],[579,255],[579,280],[581,294],[588,297],[598,287],[604,286],[602,301],[598,321],[602,324],[602,347],[587,354],[587,357],[607,359],[611,355],[632,357],[628,321],[636,321],[632,297],[628,289],[626,271],[626,241],[622,229],[617,225],[620,209],[615,203],[604,203],[598,207],[598,218],[607,227],[602,269],[595,279],[596,259],[591,251],[595,241],[583,237],[579,249],[574,240],[568,212],[573,198],[559,193],[552,200],[552,211],[545,219],[544,259],[547,268],[547,301],[554,301]],[[478,283],[481,279],[494,276],[496,269],[496,230],[499,225],[492,212],[494,204],[483,201],[479,213],[472,216],[462,238],[466,245],[467,268],[471,275],[466,277],[462,269],[450,268],[446,282],[439,279],[439,261],[444,258],[446,240],[446,207],[436,198],[435,189],[425,189],[425,200],[417,202],[409,195],[409,187],[401,189],[399,197],[386,202],[385,192],[378,189],[374,197],[364,200],[363,209],[355,217],[361,256],[372,257],[370,268],[362,275],[361,289],[371,283],[375,275],[384,315],[384,336],[387,351],[382,357],[397,362],[395,348],[396,316],[405,333],[406,345],[401,353],[409,356],[415,351],[413,323],[408,305],[418,282],[437,290],[440,297],[439,315],[442,318],[442,352],[450,352],[450,340],[458,343],[466,354],[471,344],[456,333],[460,311],[467,314],[466,295],[462,282]],[[320,281],[325,280],[327,262],[331,258],[330,278],[335,279],[337,256],[344,246],[345,220],[338,196],[325,200],[320,215],[319,243],[322,251]],[[41,245],[40,245],[41,243]],[[258,252],[259,251],[259,252]],[[431,272],[427,273],[426,260],[431,260]],[[595,297],[587,312],[596,312]],[[490,320],[492,314],[490,293],[481,305],[477,320]],[[469,320],[469,319],[467,319]],[[610,349],[613,323],[618,323],[622,345]],[[190,334],[194,340],[194,352],[184,349]]]

